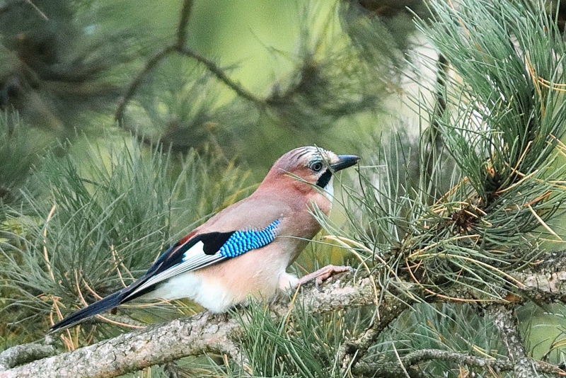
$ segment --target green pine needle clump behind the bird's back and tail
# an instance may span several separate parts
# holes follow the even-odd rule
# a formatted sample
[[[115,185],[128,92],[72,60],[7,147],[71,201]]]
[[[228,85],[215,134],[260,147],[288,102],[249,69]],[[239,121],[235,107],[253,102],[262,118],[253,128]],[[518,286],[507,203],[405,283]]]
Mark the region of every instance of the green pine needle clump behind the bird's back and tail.
[[[180,236],[248,193],[245,171],[214,151],[176,158],[129,139],[85,148],[80,166],[72,156],[49,154],[32,179],[42,183],[43,195],[24,192],[25,212],[5,210],[2,316],[32,338],[129,285]],[[185,311],[169,305],[134,318],[171,319]],[[21,322],[35,326],[19,328]],[[85,328],[88,340],[100,337]]]

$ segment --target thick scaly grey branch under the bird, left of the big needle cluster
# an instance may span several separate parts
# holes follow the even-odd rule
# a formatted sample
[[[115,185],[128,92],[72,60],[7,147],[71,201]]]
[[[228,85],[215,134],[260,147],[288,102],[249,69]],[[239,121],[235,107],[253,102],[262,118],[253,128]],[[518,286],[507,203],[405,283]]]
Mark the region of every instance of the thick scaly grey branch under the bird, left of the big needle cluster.
[[[373,303],[369,280],[359,285],[341,285],[340,281],[319,292],[311,287],[304,290],[308,311],[325,313],[340,308],[359,307]],[[289,308],[276,304],[277,316],[287,316]],[[8,377],[116,377],[151,365],[160,365],[189,355],[203,353],[229,354],[239,361],[233,342],[241,334],[241,324],[235,319],[214,316],[208,311],[178,319],[171,323],[149,326],[144,330],[125,333],[117,338],[69,353],[31,362],[12,370],[0,372]]]

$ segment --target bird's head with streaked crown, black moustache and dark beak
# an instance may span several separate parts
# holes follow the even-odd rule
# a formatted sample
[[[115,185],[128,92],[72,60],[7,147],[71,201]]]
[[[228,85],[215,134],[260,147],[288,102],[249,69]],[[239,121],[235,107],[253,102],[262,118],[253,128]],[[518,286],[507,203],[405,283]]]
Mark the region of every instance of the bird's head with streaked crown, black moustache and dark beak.
[[[317,203],[316,195],[323,190],[324,197],[332,202],[334,173],[357,161],[358,156],[337,155],[319,147],[292,149],[275,161],[258,190],[271,190],[282,195],[289,190],[298,190]]]

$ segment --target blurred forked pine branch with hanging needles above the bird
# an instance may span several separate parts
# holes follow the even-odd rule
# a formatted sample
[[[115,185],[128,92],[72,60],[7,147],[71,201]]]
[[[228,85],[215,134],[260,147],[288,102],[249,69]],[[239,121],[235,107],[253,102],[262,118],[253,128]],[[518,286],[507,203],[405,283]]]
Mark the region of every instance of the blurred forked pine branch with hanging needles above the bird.
[[[316,18],[324,17],[325,23],[331,25],[335,13],[323,12],[323,16],[317,13],[315,17],[316,6],[306,7],[302,12],[304,20],[300,25],[298,52],[293,59],[294,69],[271,84],[270,91],[267,88],[262,91],[268,93],[263,96],[232,79],[230,66],[225,67],[216,59],[200,54],[187,42],[191,4],[189,0],[183,3],[175,40],[146,61],[117,102],[115,120],[125,130],[147,134],[139,137],[140,142],[159,141],[171,144],[173,149],[186,149],[202,147],[205,141],[214,139],[225,147],[237,141],[234,135],[247,132],[261,135],[263,130],[257,129],[261,117],[274,121],[283,133],[295,129],[308,132],[325,130],[338,120],[373,112],[379,107],[380,95],[386,90],[384,73],[390,73],[393,58],[383,54],[383,45],[374,43],[374,35],[369,30],[362,33],[371,40],[364,51],[357,45],[344,45],[345,32],[335,33],[330,27],[320,33],[311,30],[311,25],[318,23]],[[339,10],[340,6],[337,4],[335,8]],[[336,42],[329,42],[329,38]],[[280,54],[276,49],[271,51]],[[371,52],[372,57],[381,57],[378,70],[375,62],[364,58],[366,52]],[[159,74],[168,72],[170,64],[174,67],[170,71],[175,77],[173,86],[163,85],[164,80],[171,79],[171,74],[158,78]],[[180,73],[181,70],[185,72]],[[397,79],[395,76],[387,81]],[[190,91],[188,87],[195,83],[199,88]],[[232,101],[211,100],[223,96],[225,89],[235,93]],[[156,98],[163,101],[158,108]],[[135,110],[141,110],[148,117],[140,117]],[[249,137],[242,142],[252,143]]]

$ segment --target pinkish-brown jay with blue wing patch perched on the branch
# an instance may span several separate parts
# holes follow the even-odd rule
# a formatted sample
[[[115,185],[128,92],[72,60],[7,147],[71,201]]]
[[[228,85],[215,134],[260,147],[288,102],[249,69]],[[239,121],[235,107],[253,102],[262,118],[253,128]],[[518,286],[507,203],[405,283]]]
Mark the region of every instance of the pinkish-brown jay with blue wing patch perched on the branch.
[[[192,230],[131,285],[55,323],[49,333],[132,299],[189,298],[222,313],[250,297],[268,300],[349,269],[328,265],[300,279],[287,273],[321,229],[315,207],[330,213],[334,173],[359,159],[313,146],[292,149],[275,161],[249,197]]]

